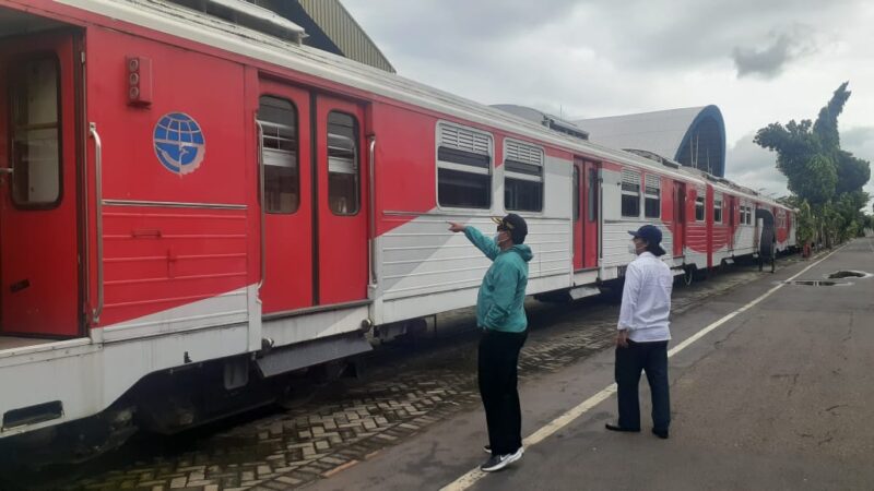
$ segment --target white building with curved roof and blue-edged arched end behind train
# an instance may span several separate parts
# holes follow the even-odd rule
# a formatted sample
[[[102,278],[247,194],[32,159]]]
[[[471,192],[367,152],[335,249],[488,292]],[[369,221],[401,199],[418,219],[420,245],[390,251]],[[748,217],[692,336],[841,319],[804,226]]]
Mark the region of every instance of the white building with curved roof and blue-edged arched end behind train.
[[[725,176],[725,122],[717,106],[579,119],[574,123],[594,143],[647,151],[713,176]]]

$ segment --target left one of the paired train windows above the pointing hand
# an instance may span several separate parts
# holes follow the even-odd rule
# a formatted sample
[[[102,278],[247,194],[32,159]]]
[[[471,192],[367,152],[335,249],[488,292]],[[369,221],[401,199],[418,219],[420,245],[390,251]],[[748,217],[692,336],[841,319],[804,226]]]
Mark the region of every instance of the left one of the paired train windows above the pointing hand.
[[[460,208],[492,206],[492,135],[437,125],[437,203]]]

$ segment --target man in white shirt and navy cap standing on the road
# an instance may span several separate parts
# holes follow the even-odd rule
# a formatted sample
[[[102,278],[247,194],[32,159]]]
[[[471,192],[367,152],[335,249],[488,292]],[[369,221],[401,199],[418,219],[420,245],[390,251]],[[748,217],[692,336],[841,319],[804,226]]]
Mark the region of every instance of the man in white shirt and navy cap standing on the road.
[[[634,260],[625,273],[618,336],[616,336],[616,385],[619,403],[617,424],[612,431],[640,431],[638,384],[640,371],[647,372],[652,393],[652,433],[668,438],[671,402],[668,393],[668,342],[671,339],[671,268],[659,258],[662,232],[645,225],[631,235]]]

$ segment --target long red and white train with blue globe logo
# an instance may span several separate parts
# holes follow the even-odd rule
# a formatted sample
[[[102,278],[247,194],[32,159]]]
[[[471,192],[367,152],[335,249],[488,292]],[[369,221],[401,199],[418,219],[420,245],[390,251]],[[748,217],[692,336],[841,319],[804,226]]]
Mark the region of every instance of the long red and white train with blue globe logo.
[[[205,3],[272,34],[168,0],[0,0],[0,442],[186,428],[472,306],[488,263],[449,220],[524,216],[530,295],[621,278],[643,224],[676,274],[794,246],[792,209],[748,189]]]

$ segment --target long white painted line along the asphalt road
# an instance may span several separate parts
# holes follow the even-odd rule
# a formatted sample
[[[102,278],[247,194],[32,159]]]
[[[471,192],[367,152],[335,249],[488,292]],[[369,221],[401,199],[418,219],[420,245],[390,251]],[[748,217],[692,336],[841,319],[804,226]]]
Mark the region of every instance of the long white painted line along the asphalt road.
[[[845,246],[841,246],[840,248],[835,249],[828,255],[826,255],[825,258],[820,259],[819,261],[808,265],[807,267],[805,267],[804,270],[802,270],[799,273],[794,274],[792,277],[790,277],[786,282],[791,282],[791,280],[798,278],[799,276],[803,275],[804,273],[807,272],[807,270],[812,268],[813,266],[816,266],[817,264],[819,264],[823,261],[825,261],[828,258],[830,258],[831,254],[834,254],[834,253],[840,251],[841,249],[843,249]],[[700,339],[701,337],[704,337],[708,333],[712,332],[713,330],[716,330],[717,327],[723,325],[724,323],[731,321],[737,314],[741,314],[741,313],[752,309],[757,303],[759,303],[763,300],[765,300],[766,298],[770,297],[771,295],[773,295],[775,291],[779,290],[780,288],[784,287],[786,285],[787,285],[787,283],[780,283],[779,285],[777,285],[773,288],[769,289],[768,291],[766,291],[765,294],[763,294],[761,296],[759,296],[755,300],[751,301],[749,303],[741,307],[740,309],[735,310],[734,312],[731,312],[730,314],[727,314],[725,316],[723,316],[723,318],[719,319],[718,321],[711,323],[707,327],[698,331],[697,333],[695,333],[694,335],[688,337],[686,340],[684,340],[683,343],[674,346],[671,350],[669,350],[668,351],[668,358],[671,358],[674,355],[678,354],[680,351],[682,351],[683,349],[687,348],[689,345],[692,345],[696,340]],[[616,392],[616,384],[615,383],[612,383],[612,384],[607,385],[606,387],[602,388],[598,394],[589,397],[588,399],[583,400],[582,403],[580,403],[576,407],[571,408],[567,412],[563,414],[558,418],[555,418],[554,420],[550,421],[548,423],[546,423],[546,426],[544,426],[540,430],[538,430],[534,433],[530,434],[527,439],[524,439],[522,441],[522,444],[524,446],[529,446],[529,447],[532,446],[532,445],[536,445],[538,443],[542,442],[543,440],[547,439],[548,436],[555,434],[560,429],[563,429],[566,426],[568,426],[575,419],[579,418],[580,416],[582,416],[583,414],[589,411],[589,409],[591,409],[591,408],[598,406],[599,404],[603,403],[604,400],[606,400],[615,392]],[[460,478],[456,479],[454,481],[450,482],[449,484],[446,484],[445,487],[442,487],[440,489],[440,491],[462,491],[462,490],[465,490],[465,489],[472,487],[473,484],[475,484],[480,479],[486,477],[487,475],[488,475],[488,472],[483,472],[482,470],[480,470],[480,467],[476,467],[474,469],[469,470],[465,475],[461,476]]]

